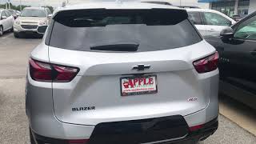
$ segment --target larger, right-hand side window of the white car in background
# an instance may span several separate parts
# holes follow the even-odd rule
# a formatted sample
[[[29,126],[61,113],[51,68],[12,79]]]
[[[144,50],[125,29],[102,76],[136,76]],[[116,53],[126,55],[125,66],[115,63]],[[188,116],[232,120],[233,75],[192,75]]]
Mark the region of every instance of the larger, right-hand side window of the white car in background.
[[[202,14],[204,15],[206,25],[214,25],[214,26],[230,26],[231,25],[231,22],[228,19],[222,17],[222,15],[220,14],[215,14],[210,12],[206,12]]]

